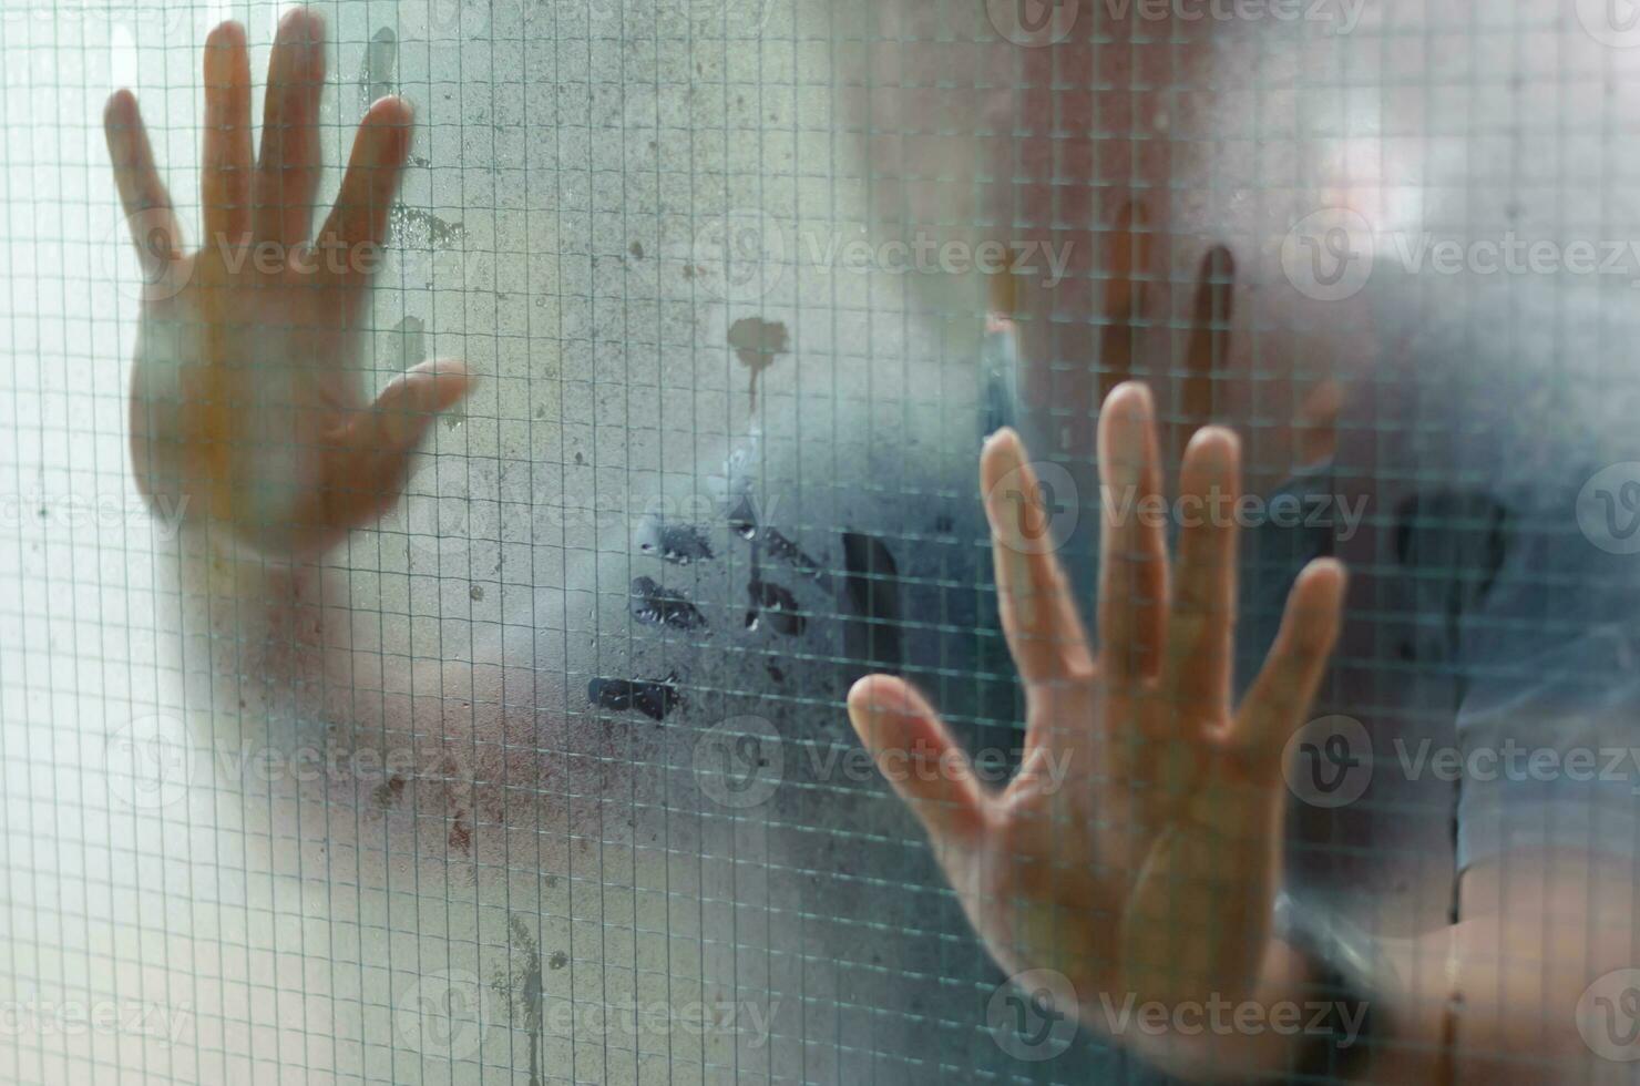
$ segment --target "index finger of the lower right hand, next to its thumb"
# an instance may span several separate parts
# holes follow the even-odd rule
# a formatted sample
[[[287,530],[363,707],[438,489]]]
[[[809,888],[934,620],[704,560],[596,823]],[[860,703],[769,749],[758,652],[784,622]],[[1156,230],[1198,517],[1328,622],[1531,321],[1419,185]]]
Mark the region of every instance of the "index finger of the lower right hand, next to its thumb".
[[[997,431],[979,458],[979,486],[991,520],[1002,630],[1027,684],[1092,676],[1087,635],[1055,556],[1048,502],[1012,430]]]

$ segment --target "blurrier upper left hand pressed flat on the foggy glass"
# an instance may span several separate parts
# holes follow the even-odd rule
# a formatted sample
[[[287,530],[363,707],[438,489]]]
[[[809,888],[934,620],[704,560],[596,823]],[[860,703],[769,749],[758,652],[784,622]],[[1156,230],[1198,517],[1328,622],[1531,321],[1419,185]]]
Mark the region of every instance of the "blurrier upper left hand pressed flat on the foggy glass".
[[[192,254],[136,97],[120,90],[103,118],[146,281],[131,376],[138,486],[187,520],[292,558],[317,554],[384,513],[436,413],[469,387],[459,363],[435,361],[366,400],[361,333],[412,112],[394,97],[371,107],[313,243],[323,82],[323,20],[292,10],[269,61],[253,161],[244,30],[223,23],[212,31],[205,240]]]

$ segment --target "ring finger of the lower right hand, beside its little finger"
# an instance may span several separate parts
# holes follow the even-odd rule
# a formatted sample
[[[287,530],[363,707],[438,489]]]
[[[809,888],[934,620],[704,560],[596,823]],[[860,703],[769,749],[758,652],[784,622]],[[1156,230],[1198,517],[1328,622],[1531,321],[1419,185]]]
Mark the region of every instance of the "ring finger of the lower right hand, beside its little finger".
[[[1189,723],[1222,723],[1230,705],[1241,451],[1220,427],[1199,430],[1179,472],[1179,559],[1173,571],[1163,689]]]

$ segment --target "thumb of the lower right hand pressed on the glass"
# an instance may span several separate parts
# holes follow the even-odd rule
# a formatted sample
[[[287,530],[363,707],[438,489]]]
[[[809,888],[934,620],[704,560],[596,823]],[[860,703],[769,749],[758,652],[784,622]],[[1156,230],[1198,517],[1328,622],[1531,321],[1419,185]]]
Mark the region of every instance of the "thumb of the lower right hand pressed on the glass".
[[[868,676],[848,692],[848,719],[936,846],[961,845],[984,828],[991,801],[968,755],[917,691]]]

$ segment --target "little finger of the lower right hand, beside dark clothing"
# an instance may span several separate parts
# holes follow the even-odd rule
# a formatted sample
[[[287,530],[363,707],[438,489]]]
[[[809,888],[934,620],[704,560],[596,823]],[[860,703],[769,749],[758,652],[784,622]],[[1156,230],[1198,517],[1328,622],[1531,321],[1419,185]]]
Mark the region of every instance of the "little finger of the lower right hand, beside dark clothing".
[[[1228,735],[1260,774],[1281,773],[1281,751],[1315,699],[1338,640],[1346,581],[1342,563],[1322,558],[1299,574],[1287,595],[1281,633]]]

